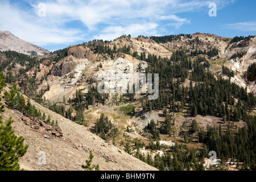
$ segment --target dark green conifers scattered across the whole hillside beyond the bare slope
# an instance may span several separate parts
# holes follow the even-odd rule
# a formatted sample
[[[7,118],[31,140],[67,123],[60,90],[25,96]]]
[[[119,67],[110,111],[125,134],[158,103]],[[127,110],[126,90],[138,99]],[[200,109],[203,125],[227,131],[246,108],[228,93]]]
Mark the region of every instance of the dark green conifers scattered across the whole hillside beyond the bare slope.
[[[220,68],[226,60],[218,58],[218,49],[215,47],[209,47],[205,50],[197,49],[197,45],[203,43],[198,36],[192,39],[191,35],[180,34],[162,37],[152,36],[151,39],[158,43],[166,43],[181,40],[181,36],[187,38],[187,43],[193,46],[193,48],[192,50],[186,50],[180,47],[180,50],[173,51],[170,59],[150,53],[146,56],[146,52],[141,52],[139,55],[137,51],[132,52],[131,47],[126,45],[117,48],[117,45],[114,44],[113,48],[111,48],[112,46],[109,45],[109,42],[104,42],[103,40],[93,40],[82,45],[89,47],[95,53],[100,53],[102,56],[111,57],[112,59],[114,59],[117,53],[126,53],[139,60],[146,61],[148,63],[146,68],[147,74],[159,73],[158,99],[145,100],[142,98],[141,104],[143,112],[163,111],[164,121],[158,122],[156,125],[155,121],[152,120],[144,128],[143,136],[148,136],[148,139],[150,139],[148,146],[145,146],[140,140],[135,141],[134,145],[132,141],[127,140],[125,143],[126,152],[160,170],[163,170],[165,167],[168,167],[170,170],[203,170],[204,158],[208,156],[209,151],[214,150],[217,152],[217,156],[222,159],[222,163],[228,158],[232,158],[232,160],[238,160],[240,163],[243,163],[242,169],[255,169],[256,120],[253,115],[250,115],[251,111],[255,109],[256,104],[254,94],[247,93],[246,89],[220,76],[216,77],[209,71],[210,63],[216,63],[216,65],[218,64],[217,68]],[[144,38],[144,36],[141,37]],[[251,37],[253,36],[235,37],[229,44],[240,42],[241,40],[247,41]],[[61,60],[67,56],[67,52],[68,48],[53,52],[55,55],[51,55],[52,57],[48,64]],[[37,71],[39,71],[38,66],[43,60],[37,60],[35,57],[27,57],[15,52],[2,53],[6,55],[7,60],[2,61],[0,67],[1,70],[7,69],[7,82],[14,83],[17,78],[23,76],[19,86],[23,88],[23,92],[27,96],[30,96],[29,98],[40,104],[43,103],[49,109],[81,125],[86,126],[84,114],[89,113],[89,111],[85,112],[86,109],[89,109],[89,105],[97,107],[109,104],[110,102],[111,104],[120,105],[134,101],[134,94],[122,94],[120,97],[118,94],[113,94],[110,101],[109,94],[98,93],[97,84],[96,86],[94,84],[96,81],[88,78],[87,81],[90,84],[88,93],[83,93],[82,89],[76,90],[73,99],[65,100],[63,98],[63,102],[66,102],[66,104],[57,105],[42,98],[44,92],[49,89],[49,86],[47,86],[46,90],[40,90],[39,93],[35,92],[40,81],[42,82],[47,77],[45,74],[40,81],[36,79]],[[237,52],[232,55],[232,58],[242,57],[244,54],[245,52]],[[199,57],[199,55],[208,55],[205,57],[209,58],[217,56],[217,60],[209,61],[209,59]],[[12,75],[10,70],[15,67],[15,64],[23,65],[26,68],[20,69],[19,75]],[[34,75],[26,75],[26,71],[34,67],[36,69]],[[251,64],[247,70],[249,81],[256,80],[255,70],[256,64]],[[234,76],[234,72],[224,66],[222,67],[222,73],[229,78]],[[187,80],[189,80],[189,85]],[[40,117],[40,110],[31,105],[29,99],[25,100],[15,84],[10,87],[9,92],[4,94],[6,105],[11,109],[19,110],[27,116]],[[65,109],[68,104],[69,108]],[[3,106],[1,105],[2,109]],[[131,117],[135,115],[135,106],[133,104],[122,106],[120,110]],[[184,126],[181,130],[177,130],[175,118],[173,117],[174,113],[177,113],[177,115],[179,113],[188,113],[191,117],[196,117],[196,115],[214,115],[219,117],[220,120],[222,119],[221,124],[225,124],[228,128],[222,131],[222,126],[220,125],[219,127],[207,126],[205,129],[204,127],[199,127],[196,120],[192,119],[190,126]],[[114,119],[118,118],[113,113],[111,115]],[[42,119],[46,123],[55,125],[51,117],[47,117],[45,113],[43,113]],[[245,122],[246,125],[238,129],[236,122],[240,121]],[[1,124],[1,127],[3,126],[5,125]],[[127,131],[129,131],[128,127]],[[102,139],[113,139],[113,143],[115,143],[118,129],[102,113],[101,117],[97,119],[94,132]],[[179,137],[184,139],[185,144],[175,144],[172,147],[164,146],[159,142],[162,137],[161,134],[169,136],[179,134]],[[205,145],[203,150],[187,147],[187,144],[194,142],[195,139],[196,142]],[[152,151],[163,150],[164,155],[155,155],[154,158],[150,154],[145,156],[138,150],[142,147]],[[89,170],[98,168],[97,166],[90,167],[92,159],[93,155],[90,151],[89,160],[86,160],[84,168]],[[221,169],[223,168],[221,167]]]

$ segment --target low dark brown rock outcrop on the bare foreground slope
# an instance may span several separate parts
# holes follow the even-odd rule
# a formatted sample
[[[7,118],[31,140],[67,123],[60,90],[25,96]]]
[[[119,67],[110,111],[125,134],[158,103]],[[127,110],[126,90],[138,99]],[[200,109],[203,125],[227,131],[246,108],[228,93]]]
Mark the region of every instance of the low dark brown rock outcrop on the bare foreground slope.
[[[63,133],[59,126],[50,126],[39,118],[22,117],[25,125],[30,126],[31,129],[38,131],[44,138],[63,137]]]

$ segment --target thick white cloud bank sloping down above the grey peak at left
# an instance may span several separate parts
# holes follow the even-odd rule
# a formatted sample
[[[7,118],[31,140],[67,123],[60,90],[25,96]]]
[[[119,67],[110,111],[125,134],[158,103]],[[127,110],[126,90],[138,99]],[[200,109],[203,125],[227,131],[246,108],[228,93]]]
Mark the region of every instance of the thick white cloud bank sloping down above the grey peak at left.
[[[73,43],[81,40],[81,31],[48,23],[44,17],[32,16],[9,3],[0,3],[0,29],[8,30],[19,38],[39,46]]]

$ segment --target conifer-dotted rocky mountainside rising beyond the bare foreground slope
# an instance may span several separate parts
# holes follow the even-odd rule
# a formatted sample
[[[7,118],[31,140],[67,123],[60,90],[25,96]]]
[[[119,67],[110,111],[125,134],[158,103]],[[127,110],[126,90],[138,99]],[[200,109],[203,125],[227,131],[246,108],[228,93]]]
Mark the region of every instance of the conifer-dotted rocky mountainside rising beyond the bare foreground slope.
[[[124,35],[39,57],[1,52],[0,69],[31,100],[160,170],[226,170],[226,162],[236,170],[254,170],[256,100],[254,85],[246,82],[256,78],[255,63],[250,64],[254,43],[254,36]],[[242,63],[246,74],[237,66]],[[98,76],[113,68],[127,75],[158,73],[159,97],[99,93]],[[24,115],[43,115],[29,100],[25,106],[19,94],[5,98]],[[46,115],[43,120],[56,125]],[[206,167],[210,151],[216,152],[218,167]]]

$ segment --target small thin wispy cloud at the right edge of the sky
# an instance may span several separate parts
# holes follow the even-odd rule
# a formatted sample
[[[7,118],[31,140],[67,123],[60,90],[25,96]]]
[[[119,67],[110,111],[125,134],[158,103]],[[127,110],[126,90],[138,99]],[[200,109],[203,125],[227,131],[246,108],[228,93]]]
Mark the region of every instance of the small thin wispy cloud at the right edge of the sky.
[[[240,22],[240,23],[225,24],[224,28],[246,31],[246,32],[256,31],[256,22]]]

